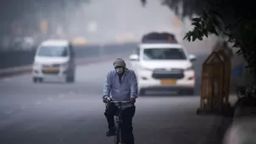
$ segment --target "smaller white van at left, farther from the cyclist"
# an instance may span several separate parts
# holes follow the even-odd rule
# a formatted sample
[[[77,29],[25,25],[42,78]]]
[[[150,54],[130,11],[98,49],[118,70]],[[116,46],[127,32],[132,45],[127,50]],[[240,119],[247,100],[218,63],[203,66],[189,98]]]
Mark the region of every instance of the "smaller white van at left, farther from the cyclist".
[[[47,40],[37,47],[33,82],[44,80],[75,81],[75,51],[68,40]]]

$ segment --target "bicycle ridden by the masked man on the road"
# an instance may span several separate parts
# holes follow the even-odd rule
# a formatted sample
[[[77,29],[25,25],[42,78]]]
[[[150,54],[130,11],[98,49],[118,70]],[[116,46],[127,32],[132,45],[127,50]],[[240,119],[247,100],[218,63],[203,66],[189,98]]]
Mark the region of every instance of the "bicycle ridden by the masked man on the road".
[[[122,141],[122,104],[128,104],[131,103],[131,101],[114,101],[114,99],[108,98],[109,103],[117,104],[117,111],[115,116],[115,129],[116,133],[114,135],[114,143],[115,144],[125,144]]]

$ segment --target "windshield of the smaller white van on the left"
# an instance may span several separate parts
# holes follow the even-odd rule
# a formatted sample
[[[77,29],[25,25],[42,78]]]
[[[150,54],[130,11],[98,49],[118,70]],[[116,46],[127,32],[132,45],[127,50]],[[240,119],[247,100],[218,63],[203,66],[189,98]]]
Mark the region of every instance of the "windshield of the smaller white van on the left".
[[[68,49],[64,46],[42,46],[37,56],[65,57],[68,56]]]

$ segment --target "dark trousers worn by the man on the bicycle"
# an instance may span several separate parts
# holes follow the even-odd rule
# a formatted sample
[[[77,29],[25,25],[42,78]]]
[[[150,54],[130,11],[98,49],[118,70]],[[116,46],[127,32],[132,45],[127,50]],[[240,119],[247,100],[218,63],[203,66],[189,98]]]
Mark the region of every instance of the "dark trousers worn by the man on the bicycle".
[[[123,142],[125,144],[134,144],[134,136],[133,136],[133,127],[132,127],[132,118],[135,114],[136,107],[126,108],[122,111],[122,136]],[[116,115],[117,107],[115,104],[111,103],[108,104],[106,107],[104,115],[106,116],[108,123],[109,123],[109,130],[114,128],[114,115]]]

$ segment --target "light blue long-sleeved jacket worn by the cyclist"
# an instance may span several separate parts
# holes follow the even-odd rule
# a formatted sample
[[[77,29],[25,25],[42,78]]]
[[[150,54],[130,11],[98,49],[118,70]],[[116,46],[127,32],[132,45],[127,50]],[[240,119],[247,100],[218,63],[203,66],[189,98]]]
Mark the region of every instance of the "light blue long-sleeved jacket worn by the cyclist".
[[[110,71],[103,86],[103,98],[109,96],[118,101],[129,101],[131,98],[137,98],[135,72],[126,68],[120,82],[117,72],[115,70]]]

